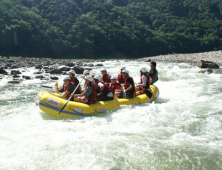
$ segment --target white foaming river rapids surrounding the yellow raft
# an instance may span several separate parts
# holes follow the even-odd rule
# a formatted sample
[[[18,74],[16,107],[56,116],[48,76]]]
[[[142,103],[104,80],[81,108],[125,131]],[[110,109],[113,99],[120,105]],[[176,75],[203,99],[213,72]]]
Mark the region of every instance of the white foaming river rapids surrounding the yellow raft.
[[[135,82],[141,67],[150,69],[149,63],[135,61],[103,64],[116,76],[126,66]],[[31,77],[36,71],[20,70]],[[3,77],[0,169],[222,169],[222,69],[199,74],[186,63],[158,62],[157,70],[156,103],[77,118],[53,117],[36,106],[41,85],[54,87],[55,81],[12,85],[10,76]]]

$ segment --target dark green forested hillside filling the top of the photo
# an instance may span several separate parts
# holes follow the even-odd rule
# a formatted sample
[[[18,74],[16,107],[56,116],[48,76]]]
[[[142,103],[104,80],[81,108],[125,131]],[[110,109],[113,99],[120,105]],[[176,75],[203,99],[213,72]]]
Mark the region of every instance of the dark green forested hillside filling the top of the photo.
[[[1,0],[0,55],[139,57],[222,50],[221,0]]]

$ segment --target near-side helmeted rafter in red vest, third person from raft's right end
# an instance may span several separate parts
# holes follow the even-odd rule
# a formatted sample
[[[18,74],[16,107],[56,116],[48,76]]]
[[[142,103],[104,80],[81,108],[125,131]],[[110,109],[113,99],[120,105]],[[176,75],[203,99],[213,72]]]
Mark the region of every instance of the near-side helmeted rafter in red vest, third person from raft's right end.
[[[123,78],[125,79],[124,89],[125,91],[116,92],[119,94],[119,98],[133,98],[135,97],[135,84],[132,77],[129,76],[128,70],[122,71]]]

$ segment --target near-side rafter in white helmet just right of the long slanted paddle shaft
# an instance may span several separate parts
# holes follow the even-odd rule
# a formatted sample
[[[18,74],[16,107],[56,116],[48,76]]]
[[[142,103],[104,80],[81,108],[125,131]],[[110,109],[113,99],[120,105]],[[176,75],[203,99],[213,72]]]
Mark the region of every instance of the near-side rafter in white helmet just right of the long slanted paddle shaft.
[[[93,104],[97,102],[97,86],[93,83],[92,76],[85,77],[85,90],[81,94],[72,94],[74,101],[85,104]]]

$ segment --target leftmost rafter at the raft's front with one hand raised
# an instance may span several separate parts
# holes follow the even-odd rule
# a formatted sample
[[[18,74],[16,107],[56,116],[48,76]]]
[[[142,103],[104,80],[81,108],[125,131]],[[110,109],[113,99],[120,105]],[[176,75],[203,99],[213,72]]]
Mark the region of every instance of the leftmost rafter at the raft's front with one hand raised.
[[[64,92],[64,94],[61,96],[61,98],[68,99],[70,97],[70,94],[75,90],[76,85],[71,83],[71,80],[69,77],[65,77],[63,79],[63,82],[64,82],[64,84],[63,84],[62,88],[60,88],[60,89],[58,88],[58,82],[56,82],[55,90],[56,90],[56,93],[63,93]],[[75,93],[77,93],[77,92],[75,92]],[[73,98],[71,98],[71,100],[73,100]]]

